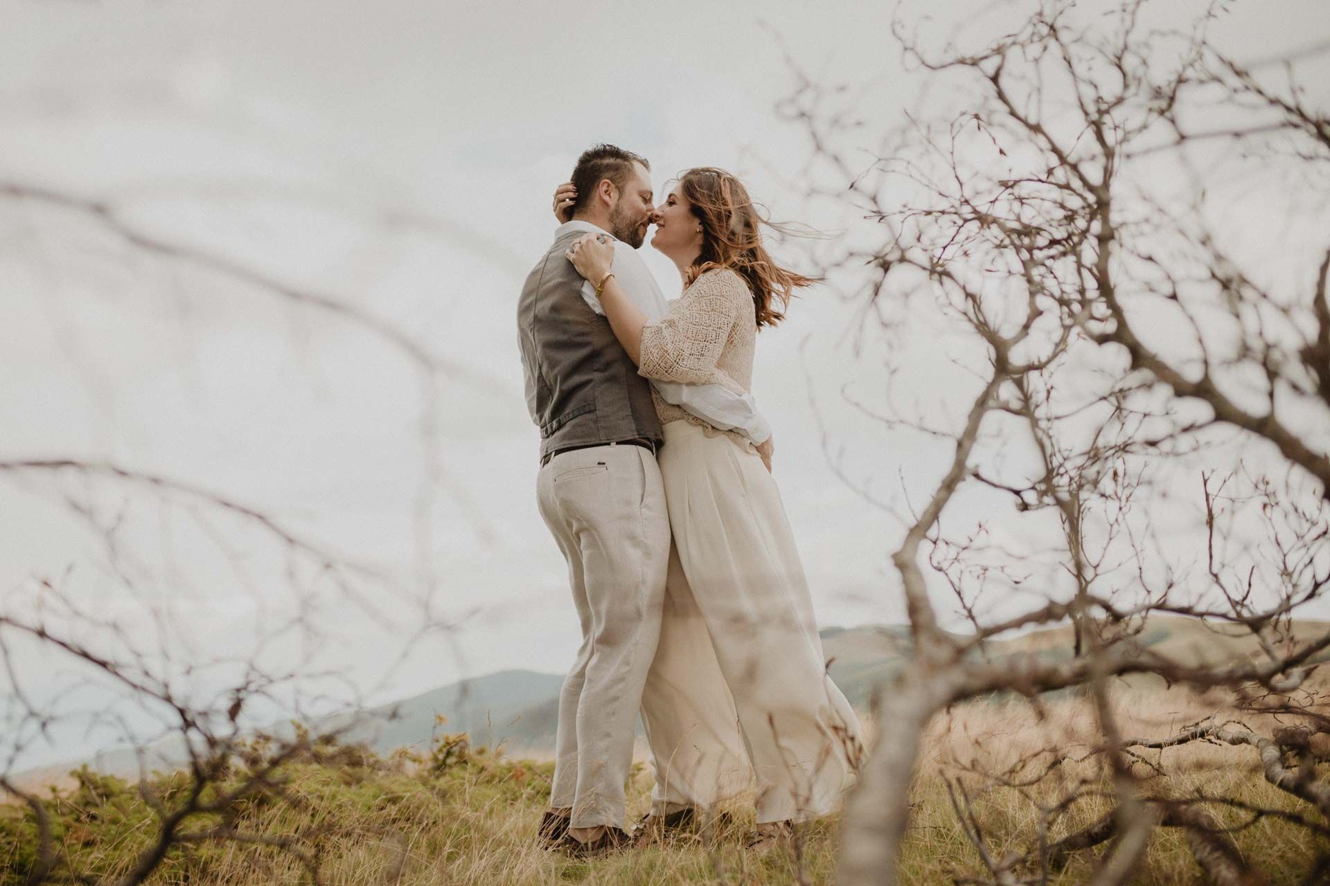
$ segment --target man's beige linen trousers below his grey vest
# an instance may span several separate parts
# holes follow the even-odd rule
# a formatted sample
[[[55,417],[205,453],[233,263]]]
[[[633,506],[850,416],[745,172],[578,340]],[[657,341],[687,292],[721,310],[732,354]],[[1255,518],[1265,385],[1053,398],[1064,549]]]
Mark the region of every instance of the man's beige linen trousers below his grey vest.
[[[641,446],[575,449],[540,469],[536,490],[568,561],[583,635],[559,696],[549,805],[572,806],[572,828],[622,828],[669,562],[660,468]]]

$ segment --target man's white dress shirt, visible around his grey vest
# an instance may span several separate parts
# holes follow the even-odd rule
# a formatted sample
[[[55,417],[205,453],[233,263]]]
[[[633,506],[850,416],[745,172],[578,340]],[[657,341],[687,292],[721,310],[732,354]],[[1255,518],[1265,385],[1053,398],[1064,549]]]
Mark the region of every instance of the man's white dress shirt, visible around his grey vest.
[[[666,304],[660,286],[656,284],[656,278],[637,250],[609,231],[581,219],[560,224],[555,236],[563,236],[568,231],[605,234],[612,238],[614,240],[614,260],[610,270],[624,294],[637,306],[638,311],[646,315],[648,323],[654,323],[669,313],[669,304]],[[596,298],[596,287],[591,280],[583,280],[581,295],[592,311],[605,316],[605,308]],[[649,379],[649,381],[661,400],[690,412],[713,428],[738,430],[754,445],[761,445],[771,436],[771,426],[757,410],[757,401],[750,393],[734,392],[718,384],[681,384],[678,381],[658,381],[657,379]]]

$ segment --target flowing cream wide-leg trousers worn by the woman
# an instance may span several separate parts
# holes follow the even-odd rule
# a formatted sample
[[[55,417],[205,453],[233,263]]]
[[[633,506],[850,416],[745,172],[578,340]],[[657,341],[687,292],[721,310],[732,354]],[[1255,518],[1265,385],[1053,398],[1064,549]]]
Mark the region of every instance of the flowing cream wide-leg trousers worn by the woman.
[[[775,481],[729,437],[686,421],[664,430],[678,557],[642,696],[652,809],[712,805],[751,773],[759,824],[831,813],[862,760],[859,721],[826,675]]]

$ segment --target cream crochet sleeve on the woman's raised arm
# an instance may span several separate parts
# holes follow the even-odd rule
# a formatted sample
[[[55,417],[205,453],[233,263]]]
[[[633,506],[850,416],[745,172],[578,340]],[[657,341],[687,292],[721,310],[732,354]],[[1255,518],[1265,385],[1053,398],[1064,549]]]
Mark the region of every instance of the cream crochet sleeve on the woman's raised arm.
[[[728,268],[697,278],[656,323],[642,328],[638,375],[661,381],[708,384],[739,311],[753,310],[743,279]]]

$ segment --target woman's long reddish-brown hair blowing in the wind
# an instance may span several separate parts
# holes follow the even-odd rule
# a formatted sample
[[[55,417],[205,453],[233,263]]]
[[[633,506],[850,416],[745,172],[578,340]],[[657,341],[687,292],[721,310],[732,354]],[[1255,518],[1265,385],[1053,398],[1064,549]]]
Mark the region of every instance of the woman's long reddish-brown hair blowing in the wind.
[[[730,268],[753,292],[758,327],[779,323],[794,290],[821,278],[795,274],[771,260],[758,231],[759,224],[771,223],[758,215],[739,179],[724,169],[697,166],[682,173],[678,185],[702,223],[702,251],[689,266],[685,286],[713,268]]]

